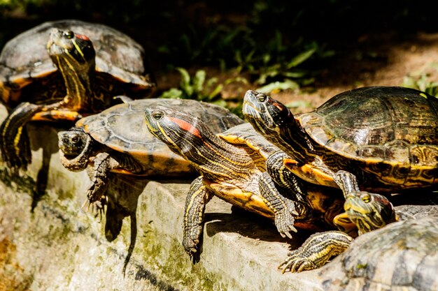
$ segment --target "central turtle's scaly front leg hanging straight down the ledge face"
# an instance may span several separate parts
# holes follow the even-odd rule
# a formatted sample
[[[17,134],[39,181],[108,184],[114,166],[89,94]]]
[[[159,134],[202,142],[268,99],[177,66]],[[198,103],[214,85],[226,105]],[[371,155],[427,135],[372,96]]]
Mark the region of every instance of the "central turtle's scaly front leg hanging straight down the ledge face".
[[[183,234],[183,247],[190,257],[197,252],[204,224],[205,206],[211,197],[213,193],[206,188],[202,177],[192,181],[185,200]]]

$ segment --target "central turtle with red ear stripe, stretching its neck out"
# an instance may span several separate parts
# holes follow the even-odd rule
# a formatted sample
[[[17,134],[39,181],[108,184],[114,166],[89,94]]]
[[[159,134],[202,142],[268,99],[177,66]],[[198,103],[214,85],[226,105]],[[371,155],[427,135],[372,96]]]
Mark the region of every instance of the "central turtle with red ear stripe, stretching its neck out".
[[[291,237],[295,226],[326,230],[336,225],[351,231],[351,221],[344,219],[341,191],[311,184],[286,170],[283,160],[288,156],[250,124],[214,135],[204,121],[187,112],[158,105],[146,108],[145,115],[150,132],[201,174],[192,181],[185,202],[183,247],[189,255],[197,253],[205,204],[213,195],[271,218],[283,237]],[[342,179],[355,179],[345,174],[350,177]],[[361,193],[365,194],[381,205],[375,216],[382,214],[383,225],[394,221],[393,206],[386,197]]]

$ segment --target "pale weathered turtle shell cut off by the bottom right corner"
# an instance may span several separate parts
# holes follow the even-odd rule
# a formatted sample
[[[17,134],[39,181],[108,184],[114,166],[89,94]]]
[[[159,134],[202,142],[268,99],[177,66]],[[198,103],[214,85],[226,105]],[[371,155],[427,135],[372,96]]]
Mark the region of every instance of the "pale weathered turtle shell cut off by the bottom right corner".
[[[395,210],[400,221],[362,234],[318,269],[321,290],[438,290],[437,205]]]

